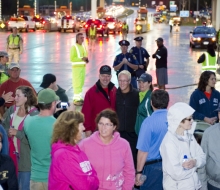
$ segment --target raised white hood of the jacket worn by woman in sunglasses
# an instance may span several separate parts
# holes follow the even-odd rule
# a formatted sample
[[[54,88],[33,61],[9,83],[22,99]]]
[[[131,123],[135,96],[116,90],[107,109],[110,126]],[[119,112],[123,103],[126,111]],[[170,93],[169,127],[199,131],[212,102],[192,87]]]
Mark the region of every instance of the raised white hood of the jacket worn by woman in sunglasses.
[[[168,131],[172,134],[176,134],[176,130],[179,127],[181,121],[189,116],[191,116],[195,110],[188,104],[183,102],[175,103],[170,107],[167,114],[168,121]],[[196,127],[196,122],[193,122],[190,130],[185,131],[185,133],[193,134]]]

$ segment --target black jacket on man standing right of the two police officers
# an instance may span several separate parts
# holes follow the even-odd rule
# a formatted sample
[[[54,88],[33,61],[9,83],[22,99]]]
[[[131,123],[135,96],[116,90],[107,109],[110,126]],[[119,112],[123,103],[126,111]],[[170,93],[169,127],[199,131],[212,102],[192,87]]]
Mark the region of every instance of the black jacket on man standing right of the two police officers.
[[[156,68],[167,68],[167,48],[163,45],[159,47],[155,54],[152,55],[156,58]]]

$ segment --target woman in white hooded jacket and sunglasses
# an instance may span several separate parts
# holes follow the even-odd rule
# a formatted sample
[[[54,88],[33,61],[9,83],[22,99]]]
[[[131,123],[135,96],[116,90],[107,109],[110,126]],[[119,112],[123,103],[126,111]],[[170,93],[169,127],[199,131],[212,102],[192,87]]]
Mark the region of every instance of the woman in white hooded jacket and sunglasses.
[[[193,136],[194,111],[182,102],[174,104],[168,111],[168,132],[160,146],[164,190],[201,188],[196,170],[205,165],[206,156]],[[188,158],[186,162],[183,162],[184,155]]]

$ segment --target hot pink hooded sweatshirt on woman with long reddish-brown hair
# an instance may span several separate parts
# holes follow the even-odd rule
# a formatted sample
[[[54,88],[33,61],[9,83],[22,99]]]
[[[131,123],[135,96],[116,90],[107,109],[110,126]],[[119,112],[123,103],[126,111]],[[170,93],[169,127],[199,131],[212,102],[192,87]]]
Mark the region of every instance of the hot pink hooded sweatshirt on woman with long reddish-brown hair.
[[[96,171],[78,145],[61,141],[52,145],[48,190],[96,190]]]

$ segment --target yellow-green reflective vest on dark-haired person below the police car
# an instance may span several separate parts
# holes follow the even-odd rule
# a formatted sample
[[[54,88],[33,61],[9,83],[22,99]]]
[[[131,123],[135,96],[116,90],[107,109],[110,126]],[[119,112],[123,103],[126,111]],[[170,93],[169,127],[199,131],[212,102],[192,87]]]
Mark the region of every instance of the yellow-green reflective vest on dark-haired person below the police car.
[[[214,57],[212,57],[211,55],[209,55],[208,52],[205,52],[204,54],[205,54],[205,61],[203,61],[202,63],[202,70],[216,72],[217,56],[215,55]]]

